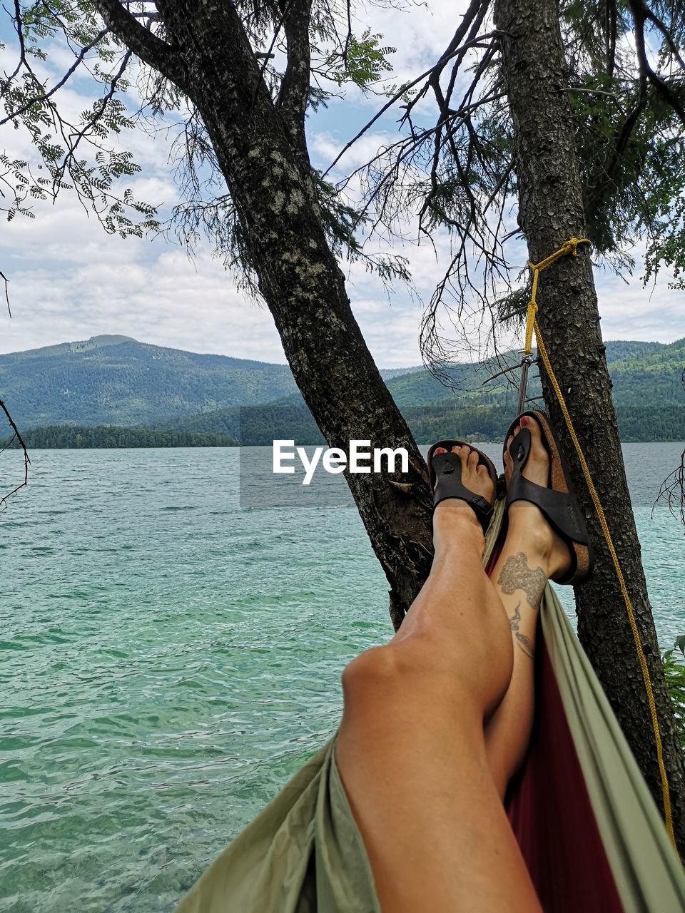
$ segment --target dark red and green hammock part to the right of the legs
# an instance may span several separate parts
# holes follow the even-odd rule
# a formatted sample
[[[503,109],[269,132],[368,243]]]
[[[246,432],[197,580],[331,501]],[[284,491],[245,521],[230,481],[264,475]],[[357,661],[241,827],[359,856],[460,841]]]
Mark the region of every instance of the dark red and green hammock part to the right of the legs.
[[[503,507],[486,540],[492,551]],[[676,913],[685,872],[614,711],[548,584],[536,647],[535,723],[508,796],[545,913]]]

